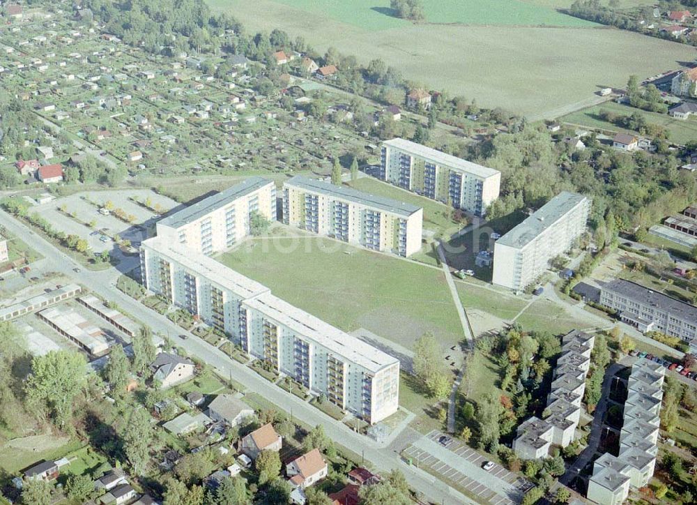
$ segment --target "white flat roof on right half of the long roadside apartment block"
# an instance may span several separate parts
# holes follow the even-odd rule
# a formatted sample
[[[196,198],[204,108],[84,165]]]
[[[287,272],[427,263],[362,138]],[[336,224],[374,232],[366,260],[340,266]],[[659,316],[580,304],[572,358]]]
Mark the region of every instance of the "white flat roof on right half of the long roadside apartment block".
[[[380,349],[359,340],[318,317],[279,299],[270,292],[254,299],[246,300],[246,306],[259,310],[264,315],[282,324],[299,336],[314,340],[329,352],[356,363],[370,372],[378,372],[399,360],[382,352]]]

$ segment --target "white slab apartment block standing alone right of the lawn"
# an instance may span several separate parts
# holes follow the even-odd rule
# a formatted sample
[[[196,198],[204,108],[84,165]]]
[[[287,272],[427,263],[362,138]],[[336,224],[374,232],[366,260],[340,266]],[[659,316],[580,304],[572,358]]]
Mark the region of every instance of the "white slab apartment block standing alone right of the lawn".
[[[549,261],[572,248],[585,232],[590,199],[562,191],[502,236],[493,247],[496,285],[520,291],[549,267]]]

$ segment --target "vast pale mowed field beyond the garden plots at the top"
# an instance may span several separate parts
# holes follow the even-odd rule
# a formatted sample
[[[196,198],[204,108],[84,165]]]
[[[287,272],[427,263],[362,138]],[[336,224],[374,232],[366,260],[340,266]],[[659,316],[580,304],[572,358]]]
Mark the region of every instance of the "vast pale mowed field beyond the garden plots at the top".
[[[639,33],[588,24],[583,28],[579,20],[551,8],[533,6],[535,22],[530,16],[523,22],[523,17],[504,15],[512,3],[507,1],[483,2],[489,5],[486,15],[498,19],[475,22],[472,14],[468,25],[411,24],[370,9],[353,9],[354,3],[344,2],[344,7],[332,2],[330,8],[328,0],[292,5],[290,0],[206,1],[214,10],[237,17],[248,31],[284,29],[321,52],[336,47],[363,63],[380,58],[408,80],[431,89],[530,116],[591,98],[602,87],[624,86],[631,74],[654,75],[696,56],[694,47]],[[359,6],[366,5],[363,1]],[[351,13],[341,15],[343,9]],[[538,26],[549,13],[564,18],[564,27]],[[461,23],[463,18],[445,22]]]

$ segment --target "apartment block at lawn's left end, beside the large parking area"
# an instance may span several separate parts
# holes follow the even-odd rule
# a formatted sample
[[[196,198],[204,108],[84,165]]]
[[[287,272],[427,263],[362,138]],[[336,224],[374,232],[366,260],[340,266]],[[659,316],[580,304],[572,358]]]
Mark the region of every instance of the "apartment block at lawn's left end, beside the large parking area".
[[[158,221],[158,236],[206,255],[231,248],[250,233],[250,218],[259,213],[276,220],[273,181],[250,177]]]

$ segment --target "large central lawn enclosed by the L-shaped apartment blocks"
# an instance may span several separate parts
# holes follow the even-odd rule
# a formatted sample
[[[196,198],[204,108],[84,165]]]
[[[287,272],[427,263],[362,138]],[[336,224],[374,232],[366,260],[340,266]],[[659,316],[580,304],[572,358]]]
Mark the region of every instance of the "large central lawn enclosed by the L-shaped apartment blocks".
[[[426,331],[443,345],[461,340],[441,271],[313,236],[251,244],[217,259],[345,331],[363,327],[406,347]]]

